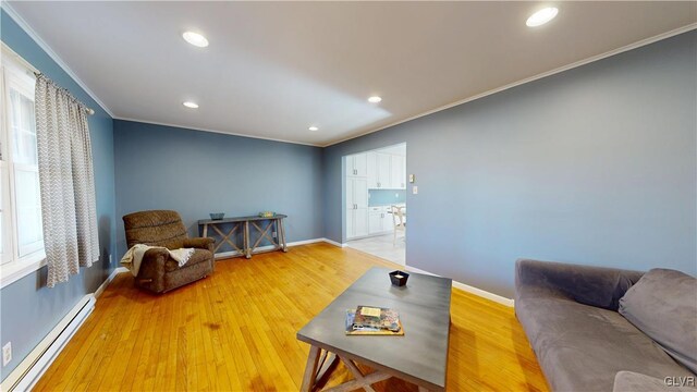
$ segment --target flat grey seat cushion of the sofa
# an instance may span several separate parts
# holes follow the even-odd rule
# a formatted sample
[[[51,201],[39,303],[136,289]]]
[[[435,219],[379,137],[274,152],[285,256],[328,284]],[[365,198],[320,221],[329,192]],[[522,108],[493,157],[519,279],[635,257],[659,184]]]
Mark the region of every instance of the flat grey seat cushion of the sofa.
[[[611,391],[621,370],[692,376],[616,311],[559,297],[522,298],[515,308],[554,391]]]

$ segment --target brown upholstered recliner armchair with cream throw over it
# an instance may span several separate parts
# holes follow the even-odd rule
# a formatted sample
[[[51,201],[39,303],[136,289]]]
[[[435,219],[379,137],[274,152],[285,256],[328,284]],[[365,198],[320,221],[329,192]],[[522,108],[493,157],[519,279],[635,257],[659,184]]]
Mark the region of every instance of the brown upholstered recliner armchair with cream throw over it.
[[[213,238],[189,238],[176,211],[155,210],[123,217],[129,248],[135,244],[162,246],[168,249],[195,248],[188,261],[179,267],[164,249],[149,249],[143,256],[135,285],[163,293],[206,278],[213,272]]]

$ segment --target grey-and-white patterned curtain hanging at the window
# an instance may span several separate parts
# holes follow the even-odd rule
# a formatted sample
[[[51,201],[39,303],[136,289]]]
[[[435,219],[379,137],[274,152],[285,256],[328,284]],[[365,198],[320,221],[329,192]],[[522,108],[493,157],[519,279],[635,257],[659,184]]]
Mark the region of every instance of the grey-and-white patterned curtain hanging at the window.
[[[36,79],[36,143],[47,285],[99,258],[87,108],[51,79]]]

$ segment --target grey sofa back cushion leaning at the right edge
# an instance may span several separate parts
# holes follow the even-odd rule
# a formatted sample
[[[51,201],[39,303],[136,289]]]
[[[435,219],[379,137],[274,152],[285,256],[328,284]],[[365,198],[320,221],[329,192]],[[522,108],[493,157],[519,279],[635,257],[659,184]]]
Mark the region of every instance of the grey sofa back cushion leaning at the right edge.
[[[697,279],[652,269],[620,299],[620,314],[697,372]]]

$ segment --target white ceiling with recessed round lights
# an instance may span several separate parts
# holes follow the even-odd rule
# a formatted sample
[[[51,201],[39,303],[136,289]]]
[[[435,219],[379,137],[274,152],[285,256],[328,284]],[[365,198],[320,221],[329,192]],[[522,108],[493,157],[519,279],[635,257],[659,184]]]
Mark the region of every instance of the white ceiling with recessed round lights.
[[[118,119],[319,146],[697,22],[695,1],[557,2],[537,28],[549,3],[10,4]]]

